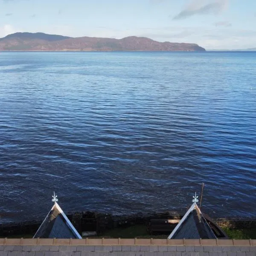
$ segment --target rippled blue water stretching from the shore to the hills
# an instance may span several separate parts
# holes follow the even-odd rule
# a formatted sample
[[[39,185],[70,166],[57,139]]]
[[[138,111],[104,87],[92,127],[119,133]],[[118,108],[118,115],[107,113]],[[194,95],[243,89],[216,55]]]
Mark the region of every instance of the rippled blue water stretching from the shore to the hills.
[[[0,52],[0,221],[256,215],[256,52]]]

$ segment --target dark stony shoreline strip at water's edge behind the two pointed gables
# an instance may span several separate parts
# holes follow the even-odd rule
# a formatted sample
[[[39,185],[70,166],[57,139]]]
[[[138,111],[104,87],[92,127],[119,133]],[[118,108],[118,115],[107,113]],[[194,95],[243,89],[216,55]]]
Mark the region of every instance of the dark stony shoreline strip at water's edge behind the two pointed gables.
[[[67,217],[79,233],[95,231],[97,234],[101,234],[105,230],[115,228],[125,228],[138,224],[148,225],[151,220],[175,220],[174,223],[176,225],[183,215],[178,212],[138,213],[132,215],[112,215],[99,212],[70,212],[67,214]],[[0,224],[0,236],[7,237],[35,233],[42,221],[43,219]],[[240,229],[256,227],[256,218],[215,218],[214,221],[220,227]]]

